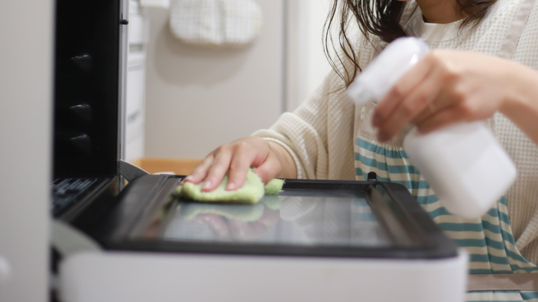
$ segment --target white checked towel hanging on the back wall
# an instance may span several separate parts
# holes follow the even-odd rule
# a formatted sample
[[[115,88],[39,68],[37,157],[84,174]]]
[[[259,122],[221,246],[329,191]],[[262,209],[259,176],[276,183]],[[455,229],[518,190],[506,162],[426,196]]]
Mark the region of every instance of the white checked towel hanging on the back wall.
[[[172,0],[170,29],[197,46],[246,46],[259,34],[261,9],[255,0]]]

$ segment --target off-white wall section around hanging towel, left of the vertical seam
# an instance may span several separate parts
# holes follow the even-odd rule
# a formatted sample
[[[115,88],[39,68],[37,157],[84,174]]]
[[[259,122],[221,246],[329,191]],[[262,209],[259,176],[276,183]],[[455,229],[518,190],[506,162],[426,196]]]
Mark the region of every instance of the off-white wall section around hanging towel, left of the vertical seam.
[[[240,50],[187,46],[150,9],[146,157],[202,158],[267,128],[283,110],[283,0],[257,0],[263,27]]]

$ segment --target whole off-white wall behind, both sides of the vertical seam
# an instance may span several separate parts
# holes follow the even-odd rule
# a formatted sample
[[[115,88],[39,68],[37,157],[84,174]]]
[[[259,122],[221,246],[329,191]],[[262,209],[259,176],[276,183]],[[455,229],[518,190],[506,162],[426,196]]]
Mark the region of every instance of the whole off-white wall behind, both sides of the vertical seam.
[[[321,43],[330,0],[255,1],[263,27],[241,50],[186,46],[168,10],[148,10],[146,157],[202,158],[268,128],[330,70]]]

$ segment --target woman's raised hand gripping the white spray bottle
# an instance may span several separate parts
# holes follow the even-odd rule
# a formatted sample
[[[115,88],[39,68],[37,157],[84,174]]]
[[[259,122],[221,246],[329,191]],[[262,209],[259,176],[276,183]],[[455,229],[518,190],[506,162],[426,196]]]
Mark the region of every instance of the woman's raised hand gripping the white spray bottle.
[[[433,50],[379,102],[372,123],[386,141],[407,123],[421,132],[477,121],[503,110],[515,96],[517,63],[478,52]]]

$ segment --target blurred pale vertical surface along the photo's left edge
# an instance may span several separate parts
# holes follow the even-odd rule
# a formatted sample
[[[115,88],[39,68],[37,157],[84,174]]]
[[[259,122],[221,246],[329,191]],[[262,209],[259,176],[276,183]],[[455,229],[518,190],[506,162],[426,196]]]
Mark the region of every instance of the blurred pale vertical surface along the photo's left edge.
[[[2,302],[48,301],[53,8],[0,3]]]

